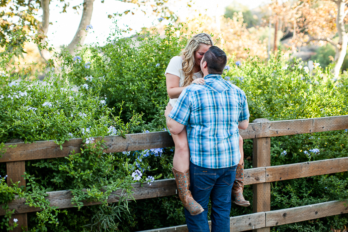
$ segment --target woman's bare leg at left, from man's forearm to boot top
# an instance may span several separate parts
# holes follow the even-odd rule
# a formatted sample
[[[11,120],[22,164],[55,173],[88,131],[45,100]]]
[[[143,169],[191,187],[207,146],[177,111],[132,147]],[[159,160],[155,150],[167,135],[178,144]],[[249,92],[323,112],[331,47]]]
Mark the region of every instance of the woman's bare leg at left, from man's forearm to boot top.
[[[190,166],[190,149],[187,142],[186,127],[179,134],[172,134],[172,137],[175,144],[173,167],[180,172],[184,172]]]

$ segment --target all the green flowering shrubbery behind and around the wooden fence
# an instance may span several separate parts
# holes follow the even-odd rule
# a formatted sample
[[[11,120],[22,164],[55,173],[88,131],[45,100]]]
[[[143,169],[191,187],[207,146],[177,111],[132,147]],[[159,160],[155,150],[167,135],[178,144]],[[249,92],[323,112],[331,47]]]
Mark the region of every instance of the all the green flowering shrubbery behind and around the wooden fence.
[[[168,96],[164,72],[187,41],[179,29],[169,26],[164,37],[155,31],[143,31],[133,38],[115,35],[103,47],[85,48],[76,56],[64,53],[61,69],[51,69],[43,82],[20,80],[20,74],[10,76],[5,72],[10,56],[1,56],[0,107],[5,109],[0,112],[1,153],[11,149],[5,143],[13,139],[26,143],[54,140],[61,145],[82,137],[84,142],[81,150],[69,157],[27,161],[25,190],[0,182],[0,201],[7,211],[1,217],[1,228],[10,227],[12,212],[6,202],[18,194],[29,205],[43,209],[28,214],[30,231],[133,232],[185,223],[176,196],[122,201],[132,199],[130,184],[135,181],[151,184],[154,179],[173,178],[173,148],[106,154],[102,139],[165,130],[163,109]],[[267,64],[257,57],[238,65],[230,60],[223,77],[246,92],[251,121],[348,114],[346,74],[336,80],[330,68],[316,67],[311,74],[304,66],[301,60],[279,53]],[[271,165],[347,157],[347,145],[346,131],[274,137]],[[243,148],[245,168],[252,168],[252,140],[245,140]],[[2,163],[0,174],[5,174]],[[271,210],[347,199],[347,179],[347,172],[342,172],[274,182]],[[57,190],[71,190],[76,207],[50,207],[44,196]],[[107,204],[109,194],[118,190],[123,190],[121,201]],[[252,186],[245,186],[244,196],[252,203]],[[82,201],[103,204],[82,207]],[[250,213],[252,207],[231,209],[231,216]],[[347,215],[342,215],[273,230],[329,231],[347,223]]]

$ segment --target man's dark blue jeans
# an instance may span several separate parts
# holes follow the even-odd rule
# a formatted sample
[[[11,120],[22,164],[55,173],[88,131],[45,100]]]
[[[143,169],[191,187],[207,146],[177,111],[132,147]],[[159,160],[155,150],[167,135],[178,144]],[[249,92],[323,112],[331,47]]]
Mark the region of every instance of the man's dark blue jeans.
[[[230,232],[231,191],[237,165],[205,168],[190,162],[190,191],[204,211],[196,216],[185,209],[189,232],[209,232],[208,202],[211,199],[211,232]]]

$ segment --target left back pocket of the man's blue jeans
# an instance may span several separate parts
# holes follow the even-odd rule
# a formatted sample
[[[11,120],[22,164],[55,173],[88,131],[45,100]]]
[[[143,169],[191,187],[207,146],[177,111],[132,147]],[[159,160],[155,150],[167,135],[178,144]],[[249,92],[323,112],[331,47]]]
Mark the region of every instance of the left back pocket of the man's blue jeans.
[[[194,187],[208,190],[212,188],[216,182],[216,171],[207,168],[194,168]]]

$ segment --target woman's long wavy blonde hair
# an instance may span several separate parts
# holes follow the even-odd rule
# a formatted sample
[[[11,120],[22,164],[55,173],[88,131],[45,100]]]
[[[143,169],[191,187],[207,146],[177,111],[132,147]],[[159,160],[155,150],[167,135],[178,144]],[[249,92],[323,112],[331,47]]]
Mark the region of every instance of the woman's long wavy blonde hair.
[[[214,42],[209,34],[199,33],[188,41],[185,49],[181,52],[181,55],[184,57],[182,60],[182,71],[185,77],[182,86],[190,85],[193,80],[194,53],[201,44],[214,46]]]

